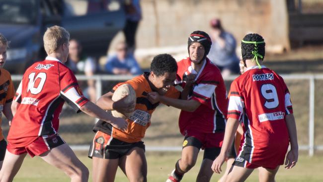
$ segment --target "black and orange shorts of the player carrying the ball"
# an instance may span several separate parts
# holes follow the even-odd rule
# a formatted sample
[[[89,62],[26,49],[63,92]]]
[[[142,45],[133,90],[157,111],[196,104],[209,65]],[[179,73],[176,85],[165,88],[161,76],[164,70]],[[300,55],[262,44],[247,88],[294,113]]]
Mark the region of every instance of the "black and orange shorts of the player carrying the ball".
[[[91,159],[92,157],[118,159],[127,155],[134,147],[139,147],[145,151],[145,144],[142,141],[127,143],[113,138],[106,133],[97,131],[90,146],[90,150],[88,151],[88,157]]]

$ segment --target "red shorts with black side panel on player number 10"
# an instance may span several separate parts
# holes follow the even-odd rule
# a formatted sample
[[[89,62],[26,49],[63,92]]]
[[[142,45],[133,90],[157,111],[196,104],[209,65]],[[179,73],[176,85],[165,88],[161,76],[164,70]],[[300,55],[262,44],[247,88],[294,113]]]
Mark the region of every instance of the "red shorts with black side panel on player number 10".
[[[63,144],[65,144],[65,141],[56,133],[47,137],[40,136],[35,141],[24,147],[15,147],[8,142],[7,150],[15,155],[21,155],[27,152],[31,157],[34,157]]]

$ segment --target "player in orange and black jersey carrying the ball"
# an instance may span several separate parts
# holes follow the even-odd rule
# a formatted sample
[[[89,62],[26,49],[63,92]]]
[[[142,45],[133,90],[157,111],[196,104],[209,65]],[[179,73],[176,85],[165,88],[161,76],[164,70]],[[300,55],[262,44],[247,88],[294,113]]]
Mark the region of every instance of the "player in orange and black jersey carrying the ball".
[[[113,101],[112,95],[122,84],[129,84],[136,92],[136,105],[127,119],[128,128],[124,131],[98,121],[93,130],[96,132],[88,157],[92,158],[93,182],[113,182],[118,166],[130,182],[147,182],[147,162],[145,145],[142,139],[151,124],[152,113],[160,104],[148,100],[149,92],[179,98],[180,92],[173,87],[177,64],[173,57],[161,54],[154,57],[150,72],[132,80],[117,84],[112,91],[102,95],[96,102],[105,110],[115,109],[121,113],[129,112],[120,101]]]

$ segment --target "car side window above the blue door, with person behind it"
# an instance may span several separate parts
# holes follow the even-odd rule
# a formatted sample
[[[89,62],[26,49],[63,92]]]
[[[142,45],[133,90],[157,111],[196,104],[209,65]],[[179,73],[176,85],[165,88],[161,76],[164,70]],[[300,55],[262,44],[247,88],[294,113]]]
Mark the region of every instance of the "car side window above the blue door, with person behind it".
[[[65,16],[83,16],[102,11],[116,11],[120,9],[121,0],[64,0]]]

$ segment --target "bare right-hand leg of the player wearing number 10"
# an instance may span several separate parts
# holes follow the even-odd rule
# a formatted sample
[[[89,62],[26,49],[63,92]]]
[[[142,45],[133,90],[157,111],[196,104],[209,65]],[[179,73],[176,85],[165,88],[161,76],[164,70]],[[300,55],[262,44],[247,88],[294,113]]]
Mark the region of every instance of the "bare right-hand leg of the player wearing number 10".
[[[87,168],[67,144],[55,147],[39,157],[48,164],[64,171],[71,178],[71,182],[87,182],[88,180],[89,172]]]

